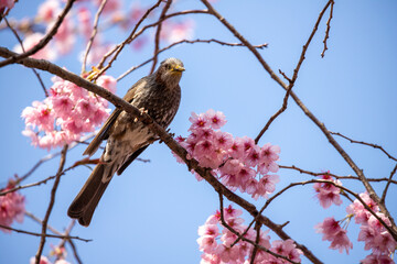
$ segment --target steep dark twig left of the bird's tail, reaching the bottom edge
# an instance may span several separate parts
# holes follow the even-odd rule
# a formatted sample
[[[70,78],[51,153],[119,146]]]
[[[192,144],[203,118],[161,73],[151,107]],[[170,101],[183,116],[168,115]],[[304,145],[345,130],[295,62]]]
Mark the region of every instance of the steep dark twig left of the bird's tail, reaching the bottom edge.
[[[43,249],[44,249],[46,226],[47,226],[47,222],[49,222],[49,219],[50,219],[51,211],[52,211],[52,209],[54,207],[54,204],[55,204],[55,194],[56,194],[56,189],[57,189],[57,187],[60,185],[61,175],[62,175],[65,162],[66,162],[66,153],[67,153],[67,144],[65,144],[65,146],[63,147],[62,153],[61,153],[60,167],[58,167],[57,173],[56,173],[56,178],[55,178],[53,188],[51,189],[50,205],[49,205],[49,208],[47,208],[47,210],[45,212],[45,217],[43,219],[42,237],[41,237],[41,240],[40,240],[37,253],[35,255],[35,263],[36,264],[40,263],[40,257],[41,257]]]

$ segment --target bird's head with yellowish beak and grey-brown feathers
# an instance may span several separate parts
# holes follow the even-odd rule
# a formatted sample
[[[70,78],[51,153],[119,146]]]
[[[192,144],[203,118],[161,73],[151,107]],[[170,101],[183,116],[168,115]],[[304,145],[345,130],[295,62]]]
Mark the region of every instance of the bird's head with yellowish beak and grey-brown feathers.
[[[178,86],[182,73],[185,70],[183,63],[178,58],[167,58],[155,72],[158,81],[165,84],[168,87]]]

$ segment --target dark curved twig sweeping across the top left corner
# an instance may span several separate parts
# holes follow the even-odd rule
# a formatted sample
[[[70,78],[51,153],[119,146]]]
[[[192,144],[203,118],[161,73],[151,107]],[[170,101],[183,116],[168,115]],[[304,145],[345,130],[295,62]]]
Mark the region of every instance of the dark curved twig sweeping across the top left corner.
[[[68,0],[65,8],[63,9],[63,11],[61,12],[61,14],[58,15],[56,22],[54,23],[54,25],[51,28],[51,30],[45,34],[45,36],[40,40],[40,42],[34,45],[31,50],[29,50],[28,52],[24,52],[24,53],[21,53],[21,54],[18,54],[18,55],[13,55],[2,62],[0,62],[0,68],[6,66],[6,65],[9,65],[9,64],[12,64],[12,63],[18,63],[20,62],[21,59],[23,58],[26,58],[33,54],[35,54],[36,52],[39,52],[41,48],[43,48],[50,41],[51,38],[56,34],[60,25],[62,24],[64,18],[66,16],[66,14],[68,13],[68,11],[72,9],[73,7],[73,3],[75,2],[76,0]]]

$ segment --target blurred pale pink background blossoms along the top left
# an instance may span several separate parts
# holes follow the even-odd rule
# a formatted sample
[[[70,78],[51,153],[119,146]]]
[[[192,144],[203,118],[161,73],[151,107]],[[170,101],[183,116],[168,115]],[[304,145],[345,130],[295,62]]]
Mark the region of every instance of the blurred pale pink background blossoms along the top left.
[[[23,32],[23,48],[20,44],[14,46],[17,53],[22,53],[23,50],[28,51],[36,45],[49,32],[58,15],[63,10],[63,0],[45,0],[37,8],[34,20],[31,21],[34,25],[30,26],[29,30]],[[53,40],[45,45],[37,53],[33,54],[33,58],[43,58],[54,61],[60,56],[69,53],[78,43],[88,43],[93,33],[94,18],[101,4],[101,0],[88,0],[88,1],[76,1],[73,9],[64,18],[64,21],[60,25],[57,33]],[[13,0],[1,0],[0,10],[2,8],[11,9],[14,4]],[[121,31],[130,31],[144,14],[147,7],[141,7],[139,2],[132,2],[130,7],[125,7],[126,3],[122,0],[107,0],[101,16],[106,23],[99,24],[99,31],[94,38],[90,52],[87,56],[88,64],[95,64],[108,53],[115,43],[106,40],[104,32],[106,29],[118,28]],[[155,12],[155,10],[154,10]],[[148,19],[158,18],[158,15],[151,15]],[[21,24],[25,21],[21,21]],[[36,31],[35,29],[41,25],[45,28],[45,32]],[[181,21],[164,21],[161,34],[161,41],[171,43],[178,42],[184,38],[193,36],[194,23],[191,20]],[[153,35],[149,37],[153,38]],[[133,48],[141,48],[143,44],[149,40],[148,34],[142,34],[132,42]],[[79,38],[83,41],[79,41]],[[78,48],[85,48],[86,45],[79,46]],[[83,53],[79,59],[83,59]]]

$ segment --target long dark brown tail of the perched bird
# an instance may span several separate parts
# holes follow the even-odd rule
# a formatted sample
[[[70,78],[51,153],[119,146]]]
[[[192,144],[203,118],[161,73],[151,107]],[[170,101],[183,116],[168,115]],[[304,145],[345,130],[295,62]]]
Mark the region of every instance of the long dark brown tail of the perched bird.
[[[84,227],[89,226],[95,208],[97,207],[100,197],[104,195],[106,187],[110,183],[115,173],[115,169],[112,168],[114,165],[115,164],[107,163],[99,163],[96,165],[82,190],[69,206],[67,216],[78,219],[78,222]],[[111,166],[110,169],[109,166]]]

